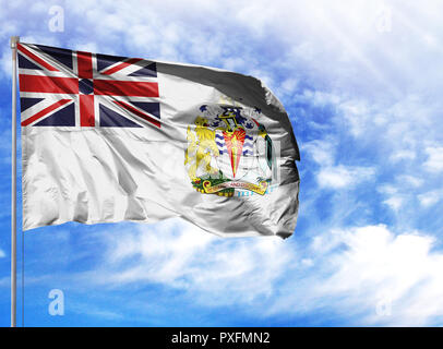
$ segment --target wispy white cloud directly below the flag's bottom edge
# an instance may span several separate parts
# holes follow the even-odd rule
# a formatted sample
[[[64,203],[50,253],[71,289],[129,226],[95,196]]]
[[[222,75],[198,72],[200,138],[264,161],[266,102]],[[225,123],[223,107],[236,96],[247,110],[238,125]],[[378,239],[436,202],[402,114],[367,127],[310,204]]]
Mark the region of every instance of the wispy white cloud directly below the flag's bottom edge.
[[[161,282],[200,292],[204,303],[227,294],[224,302],[231,303],[272,294],[295,260],[280,238],[222,239],[181,220],[127,231],[107,244],[106,268],[94,273],[95,282]]]

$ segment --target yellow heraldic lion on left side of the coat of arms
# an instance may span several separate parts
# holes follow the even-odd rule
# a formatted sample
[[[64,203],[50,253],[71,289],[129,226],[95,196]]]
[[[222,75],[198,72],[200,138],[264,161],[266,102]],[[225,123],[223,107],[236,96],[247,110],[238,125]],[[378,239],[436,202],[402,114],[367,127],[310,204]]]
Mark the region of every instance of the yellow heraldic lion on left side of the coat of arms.
[[[197,117],[194,132],[188,127],[187,139],[189,146],[184,154],[184,165],[190,164],[188,174],[194,182],[200,181],[196,172],[201,166],[203,166],[206,173],[215,174],[218,172],[217,168],[211,166],[211,153],[217,157],[219,152],[215,143],[215,131],[208,129],[208,125],[206,118]]]

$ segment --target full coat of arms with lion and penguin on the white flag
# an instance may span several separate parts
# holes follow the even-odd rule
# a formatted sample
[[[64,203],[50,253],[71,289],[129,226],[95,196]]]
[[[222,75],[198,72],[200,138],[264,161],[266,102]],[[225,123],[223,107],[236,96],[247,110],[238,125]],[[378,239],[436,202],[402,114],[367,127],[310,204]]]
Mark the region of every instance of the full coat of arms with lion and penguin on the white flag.
[[[184,165],[193,188],[203,194],[264,195],[276,179],[276,154],[260,109],[203,105],[188,127]]]

